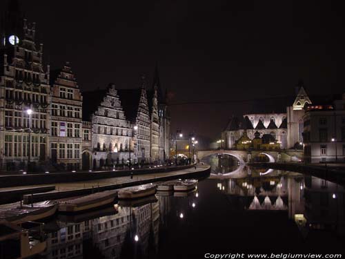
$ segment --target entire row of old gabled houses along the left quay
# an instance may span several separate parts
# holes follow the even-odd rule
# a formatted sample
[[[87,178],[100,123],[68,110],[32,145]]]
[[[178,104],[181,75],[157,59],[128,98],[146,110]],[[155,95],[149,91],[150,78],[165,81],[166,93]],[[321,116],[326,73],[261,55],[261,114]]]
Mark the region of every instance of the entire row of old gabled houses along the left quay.
[[[0,48],[0,169],[99,169],[161,162],[169,150],[170,118],[156,66],[150,89],[81,93],[70,64],[43,66],[35,24],[4,12]]]

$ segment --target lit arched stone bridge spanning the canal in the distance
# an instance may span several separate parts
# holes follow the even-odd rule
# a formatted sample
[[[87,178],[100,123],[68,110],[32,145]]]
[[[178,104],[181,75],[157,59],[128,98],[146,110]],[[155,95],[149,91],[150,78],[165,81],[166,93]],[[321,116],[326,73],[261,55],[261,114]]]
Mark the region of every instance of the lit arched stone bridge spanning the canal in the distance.
[[[281,159],[281,154],[278,151],[236,151],[225,149],[197,151],[197,158],[202,160],[204,157],[217,154],[232,155],[239,160],[240,164],[252,162],[259,155],[266,155],[269,162],[276,162]]]

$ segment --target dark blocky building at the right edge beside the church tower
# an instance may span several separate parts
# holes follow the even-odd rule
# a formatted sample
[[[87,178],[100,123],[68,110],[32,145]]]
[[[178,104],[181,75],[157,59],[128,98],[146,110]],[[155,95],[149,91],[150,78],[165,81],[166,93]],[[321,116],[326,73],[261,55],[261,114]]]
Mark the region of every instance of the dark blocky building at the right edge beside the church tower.
[[[305,107],[304,160],[344,162],[345,94],[328,104]]]

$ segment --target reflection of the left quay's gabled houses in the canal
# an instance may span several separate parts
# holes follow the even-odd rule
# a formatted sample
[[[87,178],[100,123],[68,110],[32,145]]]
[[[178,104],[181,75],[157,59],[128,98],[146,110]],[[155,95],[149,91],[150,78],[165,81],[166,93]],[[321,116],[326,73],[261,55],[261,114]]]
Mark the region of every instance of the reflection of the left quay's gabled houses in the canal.
[[[140,206],[104,209],[97,218],[59,215],[52,222],[46,258],[152,258],[159,244],[157,199]],[[99,212],[101,213],[101,211]]]

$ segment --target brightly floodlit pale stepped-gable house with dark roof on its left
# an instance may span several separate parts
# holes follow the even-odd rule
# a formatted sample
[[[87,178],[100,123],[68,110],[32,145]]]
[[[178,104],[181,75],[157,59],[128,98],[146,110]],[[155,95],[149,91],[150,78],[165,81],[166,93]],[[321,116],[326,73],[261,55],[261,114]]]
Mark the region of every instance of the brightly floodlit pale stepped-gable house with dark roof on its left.
[[[115,84],[106,90],[85,92],[83,96],[84,120],[90,119],[92,124],[92,168],[126,164],[132,131]]]

